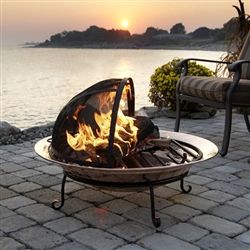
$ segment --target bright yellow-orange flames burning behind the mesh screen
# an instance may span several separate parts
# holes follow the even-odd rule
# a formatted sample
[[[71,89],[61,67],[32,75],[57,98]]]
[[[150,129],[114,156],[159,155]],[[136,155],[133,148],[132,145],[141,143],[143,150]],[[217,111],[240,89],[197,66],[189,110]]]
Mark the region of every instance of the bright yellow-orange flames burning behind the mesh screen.
[[[119,154],[121,157],[133,151],[137,143],[138,128],[134,125],[135,119],[124,115],[121,109],[125,104],[124,99],[127,97],[127,91],[130,91],[130,88],[126,86],[122,93],[122,100],[117,114],[113,144],[116,149],[116,154]],[[101,156],[99,152],[108,148],[114,98],[115,92],[113,91],[98,94],[93,100],[89,101],[92,106],[95,105],[97,110],[99,110],[99,112],[94,112],[93,115],[97,128],[96,126],[78,121],[80,111],[86,109],[87,105],[79,105],[73,114],[73,118],[78,121],[78,132],[72,135],[66,131],[67,142],[75,151],[83,150],[87,153],[89,156],[88,161],[106,161],[106,159],[100,159]]]

